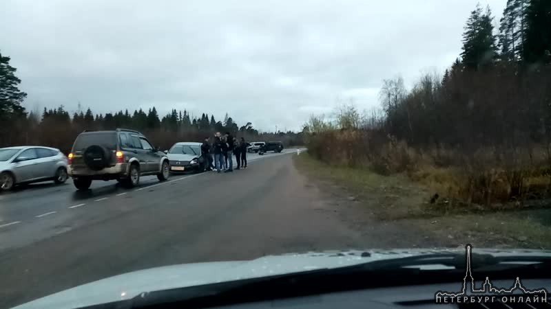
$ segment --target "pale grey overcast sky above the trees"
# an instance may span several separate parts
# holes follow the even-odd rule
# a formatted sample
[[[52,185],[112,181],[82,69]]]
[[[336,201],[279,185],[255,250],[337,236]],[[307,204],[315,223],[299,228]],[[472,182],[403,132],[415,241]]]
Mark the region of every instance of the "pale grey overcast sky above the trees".
[[[481,0],[499,21],[506,0]],[[0,1],[0,52],[32,110],[171,108],[299,130],[382,79],[410,86],[461,52],[477,0]]]

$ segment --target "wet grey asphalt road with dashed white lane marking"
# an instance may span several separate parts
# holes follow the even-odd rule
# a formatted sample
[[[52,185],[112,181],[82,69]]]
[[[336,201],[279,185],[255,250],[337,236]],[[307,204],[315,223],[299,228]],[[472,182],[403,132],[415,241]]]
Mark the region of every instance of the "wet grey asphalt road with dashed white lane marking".
[[[143,268],[349,247],[351,232],[315,211],[295,152],[132,190],[100,181],[76,192],[67,181],[0,195],[0,307]]]

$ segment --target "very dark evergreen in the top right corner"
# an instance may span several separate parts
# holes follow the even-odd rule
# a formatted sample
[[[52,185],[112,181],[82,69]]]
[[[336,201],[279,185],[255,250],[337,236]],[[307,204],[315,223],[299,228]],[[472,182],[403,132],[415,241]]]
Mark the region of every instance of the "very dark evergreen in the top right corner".
[[[530,0],[526,9],[525,59],[551,62],[551,1]]]

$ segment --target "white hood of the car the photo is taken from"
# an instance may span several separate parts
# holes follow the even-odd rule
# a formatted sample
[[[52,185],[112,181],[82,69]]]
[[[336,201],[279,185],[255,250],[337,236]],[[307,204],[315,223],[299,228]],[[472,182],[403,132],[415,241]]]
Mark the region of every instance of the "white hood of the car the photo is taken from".
[[[477,249],[477,253],[503,255],[548,255],[551,251]],[[325,251],[269,255],[256,260],[179,264],[134,271],[63,290],[15,308],[76,308],[129,299],[143,292],[184,288],[239,279],[339,268],[376,260],[406,258],[432,253],[464,253],[465,249],[397,249],[391,251]],[[54,280],[54,279],[53,279]]]

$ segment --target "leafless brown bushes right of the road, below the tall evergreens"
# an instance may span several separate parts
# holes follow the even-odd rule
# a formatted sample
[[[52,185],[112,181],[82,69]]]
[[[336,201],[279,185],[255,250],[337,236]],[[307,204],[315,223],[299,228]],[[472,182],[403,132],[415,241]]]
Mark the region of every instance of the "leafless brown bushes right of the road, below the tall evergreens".
[[[382,115],[359,115],[349,104],[329,120],[311,117],[303,130],[311,155],[407,174],[439,196],[435,205],[521,207],[548,198],[551,65],[472,69],[457,60],[443,76],[404,84],[383,81]]]

